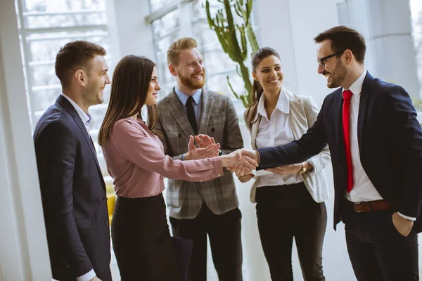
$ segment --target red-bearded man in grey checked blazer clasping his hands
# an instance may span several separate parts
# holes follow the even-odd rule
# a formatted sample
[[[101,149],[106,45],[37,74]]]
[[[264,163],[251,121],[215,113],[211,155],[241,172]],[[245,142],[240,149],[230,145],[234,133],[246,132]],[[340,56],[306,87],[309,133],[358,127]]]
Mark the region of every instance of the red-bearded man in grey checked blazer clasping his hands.
[[[205,67],[196,41],[190,37],[174,41],[167,63],[177,85],[158,102],[155,126],[165,153],[191,160],[243,148],[230,98],[203,89]],[[169,180],[167,205],[174,236],[193,240],[188,280],[207,280],[208,235],[219,280],[241,281],[241,211],[231,172],[224,170],[212,181]]]

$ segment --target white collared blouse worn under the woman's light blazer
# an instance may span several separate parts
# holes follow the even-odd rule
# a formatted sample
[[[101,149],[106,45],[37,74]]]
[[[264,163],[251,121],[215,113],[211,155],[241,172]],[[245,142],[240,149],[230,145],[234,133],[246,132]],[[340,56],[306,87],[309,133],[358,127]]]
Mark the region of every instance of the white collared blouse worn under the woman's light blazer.
[[[257,148],[272,148],[279,145],[285,145],[295,141],[293,131],[290,126],[290,103],[286,96],[286,91],[281,88],[279,100],[276,108],[268,119],[265,110],[265,95],[262,94],[258,103],[257,113],[262,116],[258,127],[257,138],[255,141]],[[289,176],[280,176],[278,174],[267,174],[257,179],[257,188],[262,186],[290,185],[303,181],[302,175],[295,174]]]

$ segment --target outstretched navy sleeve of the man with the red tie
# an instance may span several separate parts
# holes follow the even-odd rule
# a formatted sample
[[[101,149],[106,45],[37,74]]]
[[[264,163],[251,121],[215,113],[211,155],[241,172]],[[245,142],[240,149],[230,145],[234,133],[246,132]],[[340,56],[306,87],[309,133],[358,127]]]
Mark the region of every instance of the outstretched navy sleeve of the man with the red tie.
[[[323,104],[314,125],[298,141],[275,148],[258,149],[260,166],[257,167],[257,170],[303,162],[321,152],[326,146]]]

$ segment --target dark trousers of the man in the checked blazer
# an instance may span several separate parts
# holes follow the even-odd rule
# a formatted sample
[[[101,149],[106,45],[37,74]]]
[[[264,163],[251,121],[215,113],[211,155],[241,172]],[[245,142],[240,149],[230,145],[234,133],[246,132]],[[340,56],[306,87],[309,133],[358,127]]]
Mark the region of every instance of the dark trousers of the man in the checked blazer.
[[[203,203],[193,219],[170,218],[173,235],[193,240],[189,281],[207,280],[207,235],[219,281],[242,281],[241,211],[216,215]]]

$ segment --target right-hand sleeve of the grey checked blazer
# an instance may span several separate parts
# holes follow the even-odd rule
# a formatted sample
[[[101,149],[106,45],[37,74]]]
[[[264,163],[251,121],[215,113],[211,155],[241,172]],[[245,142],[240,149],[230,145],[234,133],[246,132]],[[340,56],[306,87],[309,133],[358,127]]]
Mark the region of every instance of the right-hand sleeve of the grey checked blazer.
[[[239,127],[238,117],[233,102],[226,98],[226,121],[224,122],[222,152],[230,154],[239,148],[243,148],[243,138]]]

